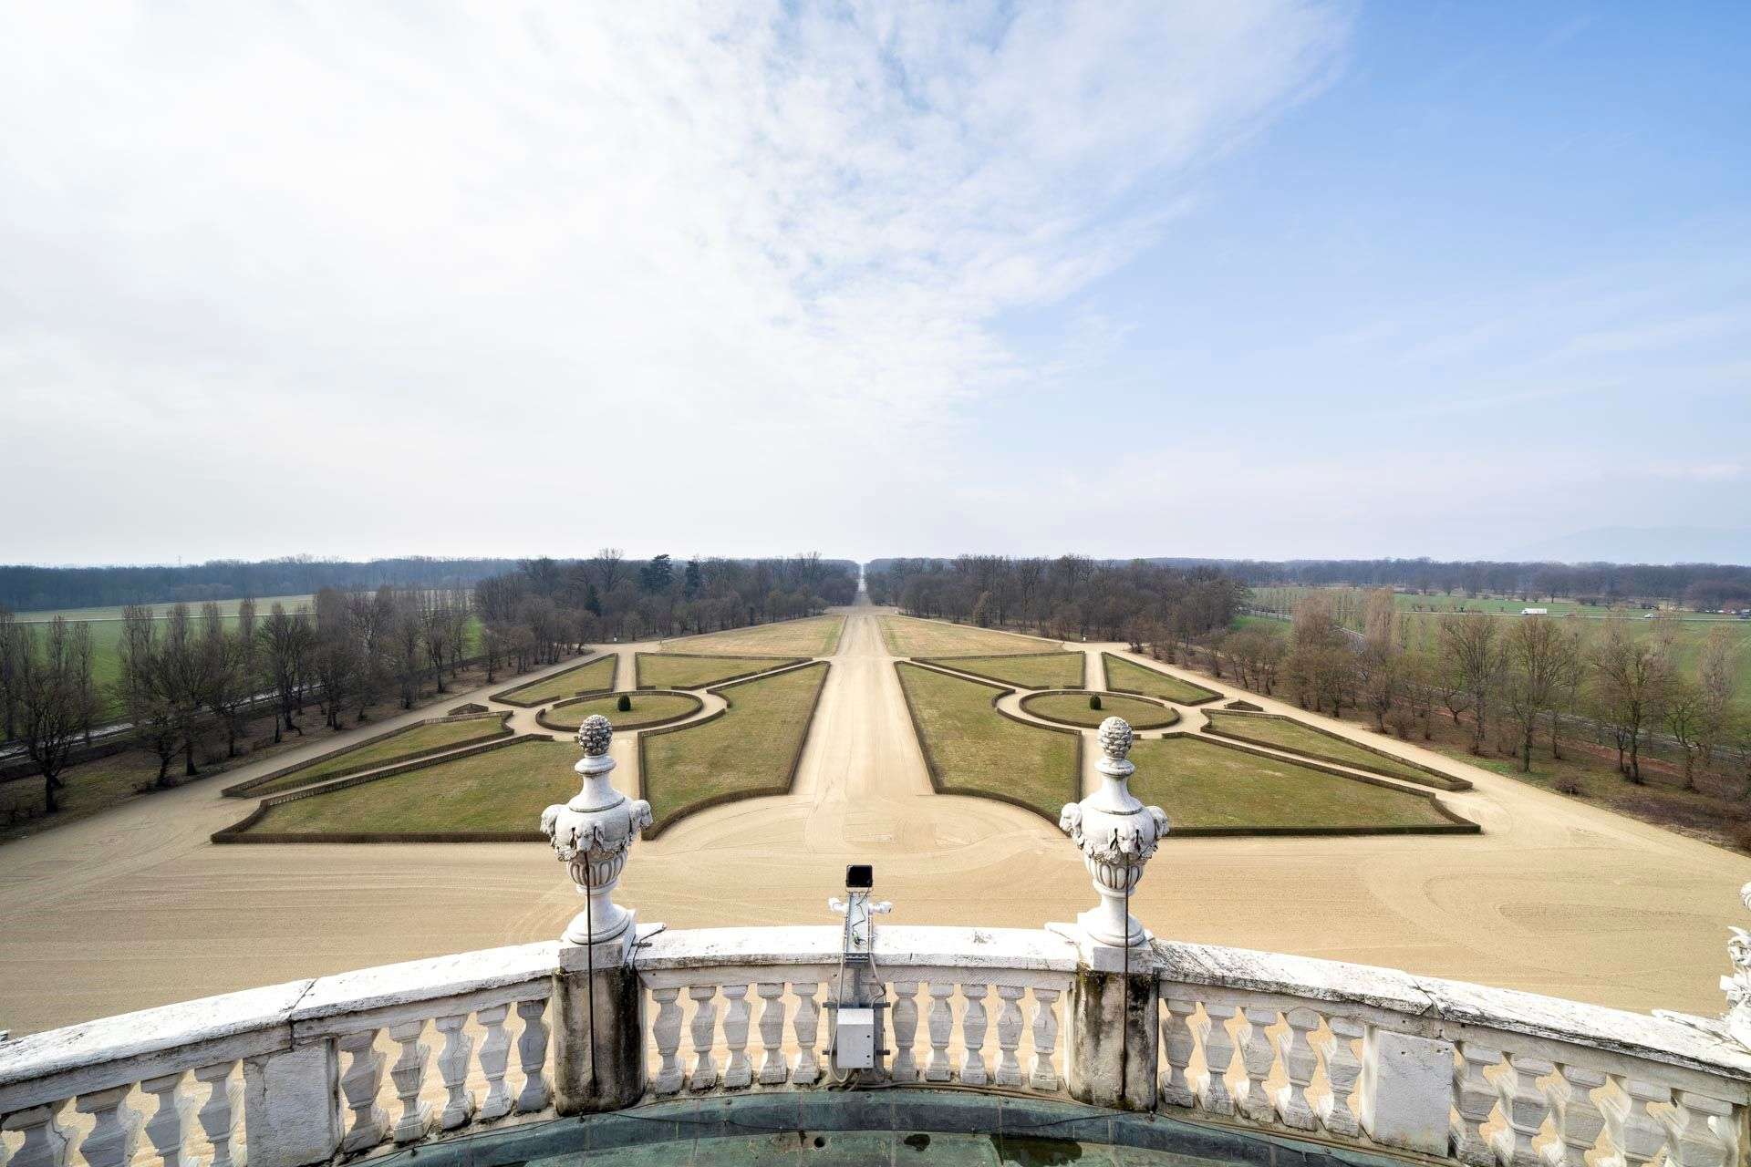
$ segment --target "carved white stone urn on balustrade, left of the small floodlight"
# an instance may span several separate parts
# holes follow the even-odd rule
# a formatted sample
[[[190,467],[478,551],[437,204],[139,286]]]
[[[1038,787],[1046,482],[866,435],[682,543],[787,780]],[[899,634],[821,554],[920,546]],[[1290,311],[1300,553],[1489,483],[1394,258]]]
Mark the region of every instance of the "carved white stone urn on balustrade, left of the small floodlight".
[[[583,761],[574,766],[583,789],[569,803],[541,812],[541,833],[553,843],[559,861],[567,864],[578,894],[588,901],[566,929],[562,940],[571,945],[608,943],[623,938],[632,927],[632,913],[611,896],[627,866],[632,842],[651,824],[651,805],[609,786],[615,759],[608,756],[608,744],[613,738],[615,728],[608,717],[594,714],[583,719],[578,726]]]

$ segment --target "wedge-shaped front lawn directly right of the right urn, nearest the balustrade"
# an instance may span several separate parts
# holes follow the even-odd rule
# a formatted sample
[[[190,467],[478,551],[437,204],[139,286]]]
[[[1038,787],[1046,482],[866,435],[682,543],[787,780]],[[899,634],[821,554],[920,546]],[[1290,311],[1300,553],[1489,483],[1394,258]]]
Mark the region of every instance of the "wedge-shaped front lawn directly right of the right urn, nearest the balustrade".
[[[1450,822],[1418,794],[1170,735],[1131,747],[1131,793],[1187,828],[1406,828]],[[1171,835],[1170,835],[1171,838]]]

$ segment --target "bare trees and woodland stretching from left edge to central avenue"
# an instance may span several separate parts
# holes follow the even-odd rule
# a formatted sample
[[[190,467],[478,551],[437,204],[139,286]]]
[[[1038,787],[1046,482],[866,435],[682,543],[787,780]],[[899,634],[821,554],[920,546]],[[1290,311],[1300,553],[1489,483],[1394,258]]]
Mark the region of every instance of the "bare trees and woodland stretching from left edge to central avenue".
[[[310,705],[338,730],[348,712],[362,719],[389,696],[411,709],[425,682],[443,693],[466,661],[483,665],[490,684],[503,667],[525,672],[588,642],[809,616],[849,604],[856,586],[854,563],[819,555],[678,565],[604,549],[588,560],[524,560],[471,590],[320,588],[310,607],[261,612],[245,600],[235,618],[217,602],[128,604],[109,693],[95,681],[88,625],[18,621],[0,605],[0,728],[42,775],[54,812],[61,773],[107,705],[158,756],[158,782],[168,786],[177,763],[184,777],[198,772],[210,737],[236,756],[263,702],[277,710],[275,740],[303,733]]]

